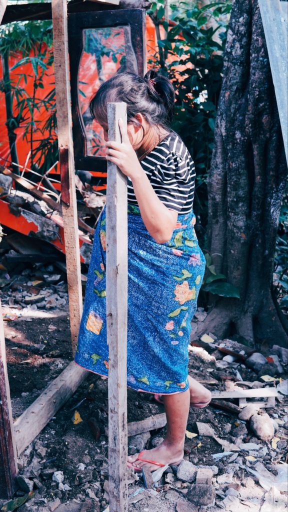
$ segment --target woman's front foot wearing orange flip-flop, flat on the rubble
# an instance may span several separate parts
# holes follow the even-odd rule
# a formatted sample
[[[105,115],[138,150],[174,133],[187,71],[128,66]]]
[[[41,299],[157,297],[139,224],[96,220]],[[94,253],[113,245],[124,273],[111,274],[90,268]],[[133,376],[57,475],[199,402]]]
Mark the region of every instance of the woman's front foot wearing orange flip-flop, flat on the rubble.
[[[175,445],[171,446],[163,441],[152,450],[145,450],[141,454],[131,455],[128,457],[127,465],[128,467],[133,467],[134,471],[141,471],[143,466],[147,467],[150,471],[156,471],[160,466],[153,464],[153,461],[159,462],[161,465],[179,464],[183,459],[183,455],[184,452],[181,448]]]

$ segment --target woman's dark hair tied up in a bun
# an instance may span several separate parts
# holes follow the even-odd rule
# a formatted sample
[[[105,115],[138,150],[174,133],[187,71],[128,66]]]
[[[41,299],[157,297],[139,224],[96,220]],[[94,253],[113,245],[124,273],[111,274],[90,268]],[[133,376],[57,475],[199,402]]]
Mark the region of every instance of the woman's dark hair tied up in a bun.
[[[154,70],[142,78],[128,71],[116,73],[102,83],[90,101],[92,117],[107,121],[107,103],[127,103],[127,121],[139,124],[135,115],[141,113],[149,124],[167,127],[173,117],[175,92],[168,78]]]

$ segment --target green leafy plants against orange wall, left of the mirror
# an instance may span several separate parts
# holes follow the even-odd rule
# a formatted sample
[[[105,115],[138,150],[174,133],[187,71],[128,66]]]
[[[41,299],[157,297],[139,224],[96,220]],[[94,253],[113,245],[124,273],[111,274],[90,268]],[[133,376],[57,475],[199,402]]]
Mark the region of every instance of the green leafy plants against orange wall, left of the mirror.
[[[52,42],[50,20],[15,22],[0,28],[0,54],[3,57],[14,56],[18,59],[10,69],[10,76],[8,74],[3,81],[3,89],[10,91],[13,105],[13,115],[7,119],[7,125],[14,130],[18,127],[24,129],[23,138],[30,144],[30,165],[40,168],[43,174],[58,160],[55,89],[51,73]],[[32,68],[32,95],[27,92],[25,72],[19,69],[11,79],[11,71],[27,63],[30,63]],[[45,88],[47,77],[52,88],[42,98],[38,92]],[[35,119],[37,111],[45,114],[43,119]]]

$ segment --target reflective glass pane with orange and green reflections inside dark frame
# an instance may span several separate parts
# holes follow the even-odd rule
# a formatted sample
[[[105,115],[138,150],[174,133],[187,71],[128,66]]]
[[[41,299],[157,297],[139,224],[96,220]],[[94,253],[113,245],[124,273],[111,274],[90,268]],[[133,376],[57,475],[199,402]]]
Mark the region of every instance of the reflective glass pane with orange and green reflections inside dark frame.
[[[117,71],[137,73],[130,27],[84,29],[78,72],[78,102],[86,140],[86,156],[104,157],[103,130],[91,117],[89,101],[101,83]]]

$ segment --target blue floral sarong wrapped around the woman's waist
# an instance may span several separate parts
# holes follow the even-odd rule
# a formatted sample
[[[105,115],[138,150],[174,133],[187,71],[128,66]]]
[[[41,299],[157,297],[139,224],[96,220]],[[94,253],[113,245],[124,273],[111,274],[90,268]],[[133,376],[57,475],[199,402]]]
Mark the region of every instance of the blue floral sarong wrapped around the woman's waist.
[[[197,309],[205,258],[193,210],[178,215],[172,238],[157,244],[137,206],[128,205],[127,385],[170,394],[188,383],[191,320]],[[106,338],[106,216],[95,231],[75,362],[108,376]]]

